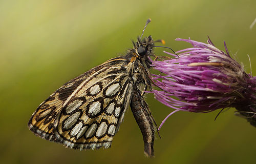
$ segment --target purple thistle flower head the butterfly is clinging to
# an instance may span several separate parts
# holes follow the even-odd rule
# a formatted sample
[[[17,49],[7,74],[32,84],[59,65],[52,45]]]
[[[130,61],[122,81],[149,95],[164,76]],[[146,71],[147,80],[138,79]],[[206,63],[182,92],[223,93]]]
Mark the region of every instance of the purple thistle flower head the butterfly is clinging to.
[[[208,39],[208,44],[190,39],[176,40],[190,43],[193,48],[177,52],[179,57],[152,61],[161,75],[152,74],[155,98],[177,111],[206,113],[234,107],[236,114],[256,127],[256,76],[245,73],[243,67]],[[165,52],[169,55],[172,53]],[[176,56],[176,55],[174,55]],[[175,98],[176,97],[176,98]]]

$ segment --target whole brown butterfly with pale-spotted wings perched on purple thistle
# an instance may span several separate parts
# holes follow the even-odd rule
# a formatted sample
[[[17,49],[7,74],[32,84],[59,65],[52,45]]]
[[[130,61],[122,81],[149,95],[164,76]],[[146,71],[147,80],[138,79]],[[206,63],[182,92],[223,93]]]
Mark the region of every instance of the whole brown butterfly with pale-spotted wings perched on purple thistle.
[[[144,153],[154,156],[156,121],[143,94],[152,89],[148,57],[155,56],[154,43],[161,40],[142,38],[144,30],[125,56],[105,61],[51,94],[32,114],[29,129],[72,149],[110,148],[130,105],[143,135]]]

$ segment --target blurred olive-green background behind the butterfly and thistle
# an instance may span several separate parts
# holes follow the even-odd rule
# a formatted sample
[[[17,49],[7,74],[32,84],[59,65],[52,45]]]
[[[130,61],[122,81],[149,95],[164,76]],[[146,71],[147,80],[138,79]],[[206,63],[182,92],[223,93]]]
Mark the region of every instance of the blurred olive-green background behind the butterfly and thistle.
[[[141,35],[180,50],[188,38],[221,50],[225,40],[247,72],[256,72],[256,1],[0,1],[0,163],[255,163],[256,129],[233,115],[178,112],[155,140],[155,158],[127,110],[111,149],[75,151],[36,137],[27,122],[37,106],[69,79],[124,54]],[[159,44],[160,45],[160,44]],[[163,55],[156,48],[156,54]],[[146,100],[160,125],[171,111]]]

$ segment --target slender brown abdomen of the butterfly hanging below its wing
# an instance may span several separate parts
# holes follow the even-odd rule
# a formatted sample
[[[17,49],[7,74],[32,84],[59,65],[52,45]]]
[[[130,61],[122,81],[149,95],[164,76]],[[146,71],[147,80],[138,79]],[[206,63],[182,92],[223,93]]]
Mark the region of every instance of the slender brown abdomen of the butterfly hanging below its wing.
[[[152,116],[147,112],[150,109],[148,108],[146,101],[141,96],[141,92],[138,88],[133,91],[131,109],[143,136],[144,154],[148,157],[153,157],[155,139],[154,125]]]

